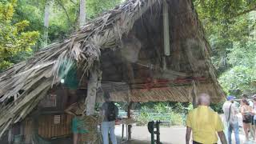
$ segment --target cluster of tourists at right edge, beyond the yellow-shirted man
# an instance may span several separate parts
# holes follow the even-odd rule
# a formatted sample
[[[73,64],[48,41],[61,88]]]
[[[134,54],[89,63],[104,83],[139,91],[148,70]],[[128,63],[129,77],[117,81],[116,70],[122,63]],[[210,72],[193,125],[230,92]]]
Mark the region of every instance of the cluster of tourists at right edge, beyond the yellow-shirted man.
[[[242,94],[240,106],[234,101],[234,96],[228,96],[227,101],[223,105],[223,111],[226,119],[228,141],[231,143],[231,134],[234,131],[235,143],[240,143],[238,113],[242,114],[242,127],[246,137],[246,142],[249,138],[253,138],[256,143],[256,95],[253,95],[250,100],[246,94]]]

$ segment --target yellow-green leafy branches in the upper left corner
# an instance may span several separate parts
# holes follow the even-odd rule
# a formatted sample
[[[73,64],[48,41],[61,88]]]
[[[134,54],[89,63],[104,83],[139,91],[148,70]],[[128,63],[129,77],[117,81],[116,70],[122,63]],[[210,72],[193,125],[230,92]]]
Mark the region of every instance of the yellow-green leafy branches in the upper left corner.
[[[38,39],[38,31],[24,31],[30,22],[13,23],[16,1],[0,2],[0,70],[10,67],[21,51],[30,54]]]

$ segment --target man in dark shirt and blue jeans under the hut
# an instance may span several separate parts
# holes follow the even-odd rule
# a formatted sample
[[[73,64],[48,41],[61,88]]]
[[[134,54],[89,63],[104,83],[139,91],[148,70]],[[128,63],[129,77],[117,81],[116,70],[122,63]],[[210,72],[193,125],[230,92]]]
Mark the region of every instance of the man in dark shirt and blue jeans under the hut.
[[[109,133],[112,144],[117,144],[117,138],[114,134],[115,120],[118,118],[118,107],[114,102],[110,102],[110,94],[104,93],[105,102],[102,105],[102,138],[103,144],[109,144]]]

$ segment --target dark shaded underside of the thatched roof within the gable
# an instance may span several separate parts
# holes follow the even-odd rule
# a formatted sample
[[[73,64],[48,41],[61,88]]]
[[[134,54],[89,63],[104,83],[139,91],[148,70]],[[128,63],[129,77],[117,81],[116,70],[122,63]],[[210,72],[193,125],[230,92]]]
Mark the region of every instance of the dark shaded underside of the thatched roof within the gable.
[[[165,87],[166,83],[187,85],[193,80],[207,80],[205,46],[198,38],[190,10],[185,10],[190,6],[168,2],[170,55],[164,53],[162,10],[156,3],[134,23],[115,50],[102,50],[102,83],[125,82],[132,89],[143,89],[148,83]]]

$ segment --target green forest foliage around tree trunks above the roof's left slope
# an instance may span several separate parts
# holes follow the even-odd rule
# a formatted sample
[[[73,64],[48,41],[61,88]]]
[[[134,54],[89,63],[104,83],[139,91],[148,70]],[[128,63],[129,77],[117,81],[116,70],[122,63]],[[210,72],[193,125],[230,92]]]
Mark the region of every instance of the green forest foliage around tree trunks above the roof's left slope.
[[[14,22],[26,19],[30,26],[26,30],[40,32],[37,49],[42,46],[43,18],[46,1],[50,2],[49,43],[63,40],[78,30],[79,1],[77,0],[19,0]],[[110,10],[122,0],[86,0],[86,19],[89,21],[98,14]]]

